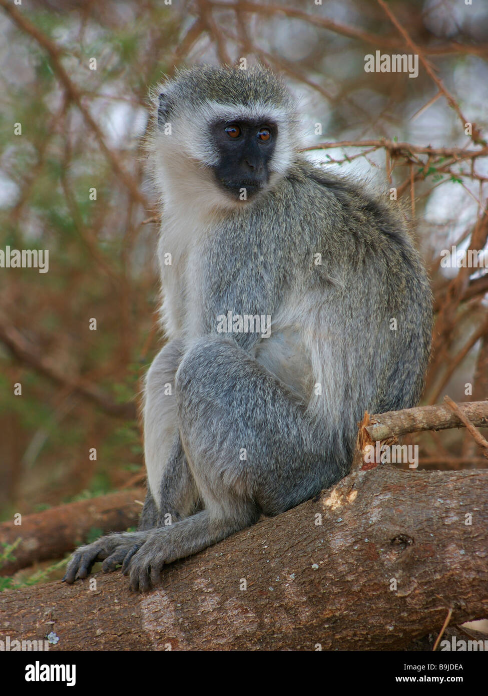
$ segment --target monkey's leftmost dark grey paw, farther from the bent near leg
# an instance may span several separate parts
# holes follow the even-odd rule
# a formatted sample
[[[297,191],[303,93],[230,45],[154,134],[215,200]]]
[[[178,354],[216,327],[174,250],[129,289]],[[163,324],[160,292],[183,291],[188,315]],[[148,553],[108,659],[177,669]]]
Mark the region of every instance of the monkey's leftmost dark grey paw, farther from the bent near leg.
[[[97,561],[104,561],[104,573],[114,571],[128,554],[136,553],[146,538],[147,532],[121,532],[102,537],[88,546],[80,546],[68,563],[63,583],[71,585],[78,578],[86,578]]]

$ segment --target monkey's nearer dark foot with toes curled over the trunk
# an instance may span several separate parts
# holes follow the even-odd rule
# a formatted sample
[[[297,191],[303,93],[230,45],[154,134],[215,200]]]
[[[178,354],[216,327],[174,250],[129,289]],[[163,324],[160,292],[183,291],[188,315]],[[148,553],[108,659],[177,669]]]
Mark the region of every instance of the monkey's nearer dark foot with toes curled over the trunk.
[[[165,538],[166,537],[166,538]],[[126,555],[122,566],[123,575],[129,575],[129,587],[132,592],[148,592],[158,585],[165,563],[171,563],[178,557],[171,548],[169,535],[152,533],[145,544],[137,544],[132,553]]]

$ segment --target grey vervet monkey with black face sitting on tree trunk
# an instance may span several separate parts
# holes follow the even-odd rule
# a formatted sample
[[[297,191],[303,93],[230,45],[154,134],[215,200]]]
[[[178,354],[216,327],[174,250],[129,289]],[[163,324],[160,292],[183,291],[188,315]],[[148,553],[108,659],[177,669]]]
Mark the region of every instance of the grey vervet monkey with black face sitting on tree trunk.
[[[272,72],[195,67],[166,81],[148,144],[162,194],[166,345],[145,380],[139,531],[72,557],[164,564],[315,496],[351,465],[365,410],[414,406],[432,296],[402,215],[299,152]]]

